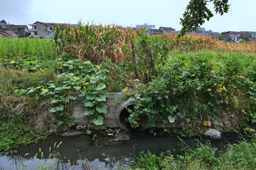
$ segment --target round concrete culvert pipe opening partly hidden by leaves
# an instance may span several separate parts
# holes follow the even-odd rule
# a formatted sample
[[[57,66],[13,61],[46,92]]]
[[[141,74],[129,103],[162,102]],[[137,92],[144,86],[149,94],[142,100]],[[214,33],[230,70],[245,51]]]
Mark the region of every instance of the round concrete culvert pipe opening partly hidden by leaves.
[[[137,101],[124,101],[117,107],[117,124],[119,125],[119,128],[122,130],[132,131],[132,130],[145,130],[148,128],[149,125],[149,119],[148,118],[141,118],[141,124],[142,127],[139,127],[137,129],[133,129],[131,124],[126,121],[126,119],[129,117],[130,113],[127,111],[127,108],[133,110],[134,106],[137,104]]]

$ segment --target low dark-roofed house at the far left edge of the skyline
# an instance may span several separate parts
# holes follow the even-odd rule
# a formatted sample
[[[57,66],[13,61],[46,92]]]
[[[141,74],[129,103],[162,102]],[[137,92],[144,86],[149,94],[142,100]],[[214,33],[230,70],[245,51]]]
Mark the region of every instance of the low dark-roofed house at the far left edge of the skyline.
[[[25,25],[0,24],[0,32],[8,33],[11,36],[28,34],[28,27]]]

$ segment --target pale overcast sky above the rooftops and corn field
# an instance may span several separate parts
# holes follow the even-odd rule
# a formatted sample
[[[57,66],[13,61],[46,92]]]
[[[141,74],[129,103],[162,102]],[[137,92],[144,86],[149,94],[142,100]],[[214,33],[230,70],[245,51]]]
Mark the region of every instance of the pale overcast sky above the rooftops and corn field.
[[[148,23],[181,29],[180,18],[189,0],[0,0],[0,20],[13,24],[78,23],[121,26]],[[218,32],[256,31],[256,0],[230,0],[230,11],[215,15],[202,27]],[[209,8],[212,8],[209,5]],[[31,26],[28,26],[31,28]]]

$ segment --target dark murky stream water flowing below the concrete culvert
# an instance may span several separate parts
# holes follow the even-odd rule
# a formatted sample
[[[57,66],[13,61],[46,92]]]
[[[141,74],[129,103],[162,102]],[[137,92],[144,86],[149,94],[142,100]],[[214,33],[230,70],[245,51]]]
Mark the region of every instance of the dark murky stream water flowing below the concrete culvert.
[[[38,166],[54,164],[55,169],[82,169],[82,165],[89,164],[94,169],[117,169],[131,165],[132,160],[139,155],[139,152],[150,150],[156,154],[173,151],[182,145],[182,141],[176,136],[153,136],[146,132],[134,132],[130,134],[129,142],[123,142],[117,146],[106,146],[107,137],[97,137],[97,145],[94,145],[92,138],[87,135],[77,137],[51,136],[48,140],[38,144],[28,145],[18,149],[18,154],[0,155],[0,169],[39,169]],[[207,139],[199,137],[182,138],[186,145],[195,145],[195,140],[205,143]],[[223,135],[223,140],[211,140],[212,147],[223,149],[227,143],[239,140],[238,135]],[[53,145],[62,142],[56,149]],[[41,148],[41,152],[39,152]],[[49,148],[51,153],[60,153],[60,157],[48,158]],[[36,157],[36,153],[37,157]],[[43,157],[41,153],[43,152]],[[29,153],[25,156],[26,153]],[[49,163],[50,162],[50,163]],[[57,168],[56,168],[57,167]]]

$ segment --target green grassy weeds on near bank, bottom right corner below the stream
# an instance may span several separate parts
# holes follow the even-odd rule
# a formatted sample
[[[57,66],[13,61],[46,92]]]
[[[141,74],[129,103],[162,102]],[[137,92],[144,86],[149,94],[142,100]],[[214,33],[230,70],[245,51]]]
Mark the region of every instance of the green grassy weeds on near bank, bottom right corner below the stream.
[[[127,169],[256,169],[255,156],[255,140],[228,145],[225,152],[198,142],[196,149],[183,149],[181,155],[142,152]]]

